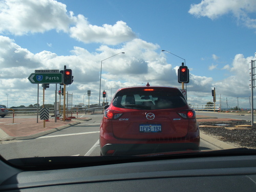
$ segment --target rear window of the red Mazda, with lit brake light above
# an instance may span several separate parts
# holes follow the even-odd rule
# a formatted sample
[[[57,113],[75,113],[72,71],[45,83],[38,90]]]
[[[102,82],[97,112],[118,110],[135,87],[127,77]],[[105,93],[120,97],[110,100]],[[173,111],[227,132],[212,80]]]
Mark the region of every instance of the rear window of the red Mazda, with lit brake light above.
[[[160,110],[180,108],[186,105],[186,100],[178,89],[133,88],[119,91],[113,105],[126,109]]]

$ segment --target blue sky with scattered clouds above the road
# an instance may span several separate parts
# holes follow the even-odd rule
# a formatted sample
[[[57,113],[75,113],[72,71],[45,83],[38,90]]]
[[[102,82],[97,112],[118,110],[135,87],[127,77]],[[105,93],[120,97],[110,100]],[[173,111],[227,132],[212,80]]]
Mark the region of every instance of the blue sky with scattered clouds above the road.
[[[120,87],[147,82],[181,89],[185,62],[189,104],[212,101],[215,88],[217,103],[249,107],[255,0],[0,0],[0,23],[0,104],[9,108],[37,103],[31,73],[64,66],[74,76],[72,104],[88,104],[88,90],[98,103],[101,61],[108,101]],[[55,88],[45,103],[54,103]]]

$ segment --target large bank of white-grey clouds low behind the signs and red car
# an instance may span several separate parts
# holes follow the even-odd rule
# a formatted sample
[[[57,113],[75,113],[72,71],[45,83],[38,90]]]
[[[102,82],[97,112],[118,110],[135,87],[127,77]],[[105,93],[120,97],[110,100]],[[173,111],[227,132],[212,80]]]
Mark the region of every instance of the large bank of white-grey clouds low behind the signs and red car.
[[[34,95],[37,86],[31,85],[28,80],[28,76],[35,69],[61,70],[64,65],[72,69],[74,75],[74,82],[68,87],[69,92],[74,92],[82,98],[87,90],[91,90],[91,102],[97,103],[101,60],[124,50],[125,54],[119,54],[103,61],[101,86],[108,93],[111,92],[112,87],[120,83],[123,83],[123,86],[134,86],[141,85],[142,82],[149,82],[152,86],[180,87],[177,82],[178,66],[172,66],[166,62],[165,54],[157,51],[158,45],[141,39],[129,41],[120,46],[120,49],[101,46],[95,53],[74,47],[72,54],[67,56],[58,56],[49,51],[33,54],[15,44],[14,40],[4,36],[0,36],[0,48],[1,88],[10,93],[10,103],[15,102],[16,105],[19,105],[18,102],[20,104],[36,103]],[[234,56],[232,63],[223,68],[232,76],[219,82],[214,82],[211,77],[194,75],[190,71],[190,81],[187,84],[188,96],[205,97],[210,95],[212,87],[216,87],[218,93],[222,95],[248,96],[250,94],[248,63],[251,59],[253,56],[248,58],[244,58],[242,54]],[[212,65],[212,68],[214,67]],[[48,100],[51,100],[51,97],[54,98],[54,89],[54,86],[51,85],[47,90]],[[23,90],[27,90],[26,94],[23,93]],[[3,97],[4,93],[0,93],[0,96]],[[28,101],[27,98],[31,99]],[[80,99],[79,102],[81,102],[81,98],[77,98],[77,100]]]

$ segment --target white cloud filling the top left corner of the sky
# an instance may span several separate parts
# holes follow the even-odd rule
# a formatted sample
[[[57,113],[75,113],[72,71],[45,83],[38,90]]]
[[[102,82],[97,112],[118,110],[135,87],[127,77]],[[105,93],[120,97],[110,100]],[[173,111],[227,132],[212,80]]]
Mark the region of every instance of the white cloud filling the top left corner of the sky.
[[[0,32],[15,35],[43,33],[52,29],[68,32],[75,22],[66,5],[54,0],[5,0],[0,3]]]

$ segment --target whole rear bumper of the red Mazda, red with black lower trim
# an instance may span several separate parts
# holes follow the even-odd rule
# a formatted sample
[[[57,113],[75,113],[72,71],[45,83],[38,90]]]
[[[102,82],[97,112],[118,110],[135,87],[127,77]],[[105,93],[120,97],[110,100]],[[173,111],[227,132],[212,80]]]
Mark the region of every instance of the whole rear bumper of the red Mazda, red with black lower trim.
[[[142,155],[163,152],[199,150],[200,132],[187,133],[180,139],[130,140],[118,139],[113,133],[100,129],[100,151],[102,155]]]

